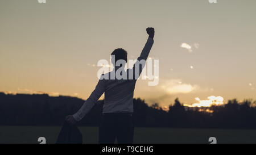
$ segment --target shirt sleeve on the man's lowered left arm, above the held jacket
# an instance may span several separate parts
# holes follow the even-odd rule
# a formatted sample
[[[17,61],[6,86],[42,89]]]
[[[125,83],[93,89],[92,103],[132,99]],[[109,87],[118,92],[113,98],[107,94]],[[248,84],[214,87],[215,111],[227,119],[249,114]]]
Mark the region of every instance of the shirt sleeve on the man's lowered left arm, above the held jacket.
[[[96,88],[93,90],[92,94],[90,94],[90,97],[87,100],[85,100],[84,104],[82,104],[82,107],[79,109],[79,111],[77,111],[76,114],[73,115],[73,118],[76,121],[80,121],[82,118],[84,118],[84,116],[92,109],[94,104],[104,93],[104,91],[104,81],[103,79],[100,79],[98,81]]]

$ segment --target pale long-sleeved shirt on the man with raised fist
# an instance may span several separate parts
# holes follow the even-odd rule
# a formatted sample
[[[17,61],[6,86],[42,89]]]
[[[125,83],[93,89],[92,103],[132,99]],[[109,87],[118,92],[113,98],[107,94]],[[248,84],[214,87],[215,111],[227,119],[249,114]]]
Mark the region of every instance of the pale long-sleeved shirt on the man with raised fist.
[[[82,104],[82,107],[73,118],[76,121],[81,120],[84,116],[92,109],[97,100],[105,92],[105,99],[103,105],[103,113],[133,113],[133,94],[135,83],[138,77],[135,76],[135,70],[138,69],[140,60],[147,60],[148,54],[150,53],[151,47],[154,40],[148,37],[147,43],[142,49],[141,56],[138,57],[132,69],[127,69],[127,79],[100,79],[96,88],[93,90],[90,97]],[[146,62],[146,61],[144,61]],[[139,74],[141,74],[144,64],[139,68]],[[115,72],[115,69],[112,70]],[[129,73],[133,72],[133,79],[129,79]],[[111,72],[106,73],[102,76],[109,76]]]

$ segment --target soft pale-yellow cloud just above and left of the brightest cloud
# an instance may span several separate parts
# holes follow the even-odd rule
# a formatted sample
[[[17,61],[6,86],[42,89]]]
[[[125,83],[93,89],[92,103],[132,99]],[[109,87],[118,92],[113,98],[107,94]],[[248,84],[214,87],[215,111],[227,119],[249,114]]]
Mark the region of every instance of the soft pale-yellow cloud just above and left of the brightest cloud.
[[[191,93],[196,89],[199,89],[197,85],[191,85],[189,83],[183,83],[180,79],[170,79],[164,82],[161,86],[168,94],[186,94]]]

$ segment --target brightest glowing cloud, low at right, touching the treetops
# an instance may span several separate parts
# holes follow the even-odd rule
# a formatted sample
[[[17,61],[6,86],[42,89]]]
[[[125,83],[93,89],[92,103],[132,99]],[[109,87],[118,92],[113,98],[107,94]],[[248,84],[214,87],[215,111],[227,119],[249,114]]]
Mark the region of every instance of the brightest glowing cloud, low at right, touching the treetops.
[[[184,104],[184,106],[188,106],[188,107],[210,107],[212,106],[213,104],[216,104],[216,105],[221,105],[223,104],[223,100],[224,98],[221,97],[221,96],[218,96],[218,97],[215,97],[215,96],[210,96],[208,97],[208,99],[206,100],[201,100],[200,98],[195,98],[197,100],[196,103],[193,103],[192,105],[189,105],[189,104]]]

